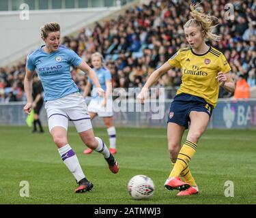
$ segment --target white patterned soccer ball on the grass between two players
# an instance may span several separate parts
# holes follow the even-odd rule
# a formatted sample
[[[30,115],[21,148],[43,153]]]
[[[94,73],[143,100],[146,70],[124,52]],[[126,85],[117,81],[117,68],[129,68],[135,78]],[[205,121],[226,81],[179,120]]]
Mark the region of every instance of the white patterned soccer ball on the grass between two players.
[[[128,183],[128,191],[132,198],[140,200],[150,198],[154,193],[154,183],[152,179],[145,175],[133,176]]]

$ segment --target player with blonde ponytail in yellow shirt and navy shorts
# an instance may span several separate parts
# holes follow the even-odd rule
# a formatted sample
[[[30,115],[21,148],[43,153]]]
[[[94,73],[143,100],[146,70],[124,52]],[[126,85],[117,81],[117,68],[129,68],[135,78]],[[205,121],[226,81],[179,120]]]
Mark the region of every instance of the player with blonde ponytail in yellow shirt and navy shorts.
[[[169,69],[182,68],[182,84],[171,104],[167,139],[173,170],[165,182],[169,190],[178,189],[177,196],[198,193],[199,189],[188,168],[195,155],[199,138],[205,131],[218,99],[219,86],[233,92],[235,84],[231,78],[231,67],[222,52],[205,44],[205,40],[219,40],[212,33],[216,17],[206,15],[191,5],[193,19],[184,25],[184,33],[189,47],[176,52],[165,64],[156,69],[148,78],[138,99],[143,103],[147,89]],[[181,146],[184,130],[190,129],[186,142]],[[180,179],[184,178],[184,182]]]

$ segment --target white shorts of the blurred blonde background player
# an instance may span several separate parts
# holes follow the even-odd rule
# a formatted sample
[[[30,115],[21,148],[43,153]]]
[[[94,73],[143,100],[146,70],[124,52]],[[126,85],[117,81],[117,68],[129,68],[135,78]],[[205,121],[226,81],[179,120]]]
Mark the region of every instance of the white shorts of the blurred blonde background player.
[[[92,98],[88,106],[88,111],[98,114],[100,117],[113,116],[113,100],[112,97],[106,100],[106,106],[102,107],[103,98]]]

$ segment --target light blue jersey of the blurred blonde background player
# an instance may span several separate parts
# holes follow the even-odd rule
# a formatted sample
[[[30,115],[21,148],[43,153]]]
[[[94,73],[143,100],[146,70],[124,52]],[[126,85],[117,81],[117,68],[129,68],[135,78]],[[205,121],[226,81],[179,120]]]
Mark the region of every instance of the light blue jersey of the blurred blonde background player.
[[[105,67],[101,67],[100,69],[95,69],[94,72],[96,72],[98,76],[98,80],[100,82],[100,86],[104,91],[106,91],[106,80],[111,80],[111,73],[109,72],[109,69],[106,69]],[[96,86],[91,81],[90,78],[88,78],[88,81],[93,84],[92,91],[91,91],[91,97],[96,98],[98,97],[98,94],[96,93]]]

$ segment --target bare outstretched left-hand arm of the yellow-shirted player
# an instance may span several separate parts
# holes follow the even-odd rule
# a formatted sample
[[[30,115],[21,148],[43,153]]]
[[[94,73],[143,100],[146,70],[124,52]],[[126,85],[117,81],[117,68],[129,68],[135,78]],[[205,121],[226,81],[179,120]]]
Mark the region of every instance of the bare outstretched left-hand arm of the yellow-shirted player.
[[[152,86],[152,84],[158,81],[160,76],[162,76],[162,74],[165,74],[171,68],[171,64],[167,61],[150,75],[150,78],[147,79],[147,82],[145,83],[145,85],[141,89],[141,92],[137,96],[137,99],[139,99],[139,101],[142,104],[144,104],[145,99],[147,98],[148,89]]]

